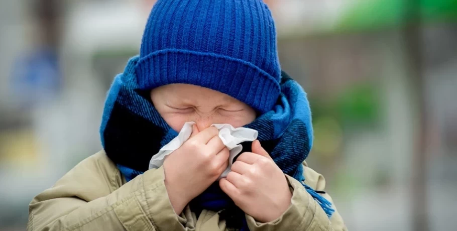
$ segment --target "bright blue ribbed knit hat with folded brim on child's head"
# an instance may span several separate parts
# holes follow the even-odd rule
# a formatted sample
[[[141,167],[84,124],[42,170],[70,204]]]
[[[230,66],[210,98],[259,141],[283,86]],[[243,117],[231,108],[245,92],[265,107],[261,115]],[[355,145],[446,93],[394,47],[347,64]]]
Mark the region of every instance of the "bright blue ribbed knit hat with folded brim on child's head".
[[[158,0],[136,73],[142,89],[194,84],[267,112],[281,91],[271,12],[262,0]]]

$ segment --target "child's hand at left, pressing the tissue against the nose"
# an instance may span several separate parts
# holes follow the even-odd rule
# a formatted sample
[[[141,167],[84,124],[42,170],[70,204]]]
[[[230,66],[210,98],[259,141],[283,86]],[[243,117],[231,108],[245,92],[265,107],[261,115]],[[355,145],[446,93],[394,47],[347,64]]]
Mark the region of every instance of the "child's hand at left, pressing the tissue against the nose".
[[[214,127],[199,132],[194,125],[189,140],[165,159],[165,187],[177,214],[227,168],[229,152],[218,134]]]

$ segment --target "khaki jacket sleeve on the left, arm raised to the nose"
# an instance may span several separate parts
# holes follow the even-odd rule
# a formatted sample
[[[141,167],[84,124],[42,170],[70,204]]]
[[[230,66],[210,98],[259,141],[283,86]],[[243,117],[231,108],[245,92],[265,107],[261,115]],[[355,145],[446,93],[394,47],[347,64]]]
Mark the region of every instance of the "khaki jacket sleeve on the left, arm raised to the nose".
[[[163,168],[122,185],[117,168],[93,158],[32,200],[27,230],[187,230],[171,206]]]

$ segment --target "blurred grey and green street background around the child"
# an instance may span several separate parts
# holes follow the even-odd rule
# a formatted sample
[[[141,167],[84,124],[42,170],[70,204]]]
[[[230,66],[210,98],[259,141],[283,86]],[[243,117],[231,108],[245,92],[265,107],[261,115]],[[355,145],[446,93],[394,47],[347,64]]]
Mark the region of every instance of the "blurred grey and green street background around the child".
[[[457,1],[270,0],[308,92],[309,165],[349,230],[455,230]],[[0,230],[101,149],[105,93],[151,0],[0,0]]]

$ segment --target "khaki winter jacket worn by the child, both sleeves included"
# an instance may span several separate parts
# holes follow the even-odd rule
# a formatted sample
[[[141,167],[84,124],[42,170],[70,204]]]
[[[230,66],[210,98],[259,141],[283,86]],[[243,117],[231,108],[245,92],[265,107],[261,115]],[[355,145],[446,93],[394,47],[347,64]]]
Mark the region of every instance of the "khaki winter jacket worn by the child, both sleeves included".
[[[305,183],[325,190],[322,175],[305,165]],[[189,206],[177,215],[168,199],[163,168],[126,183],[116,165],[101,151],[76,165],[29,206],[27,230],[228,230],[220,211],[196,217]],[[292,203],[269,223],[246,215],[251,231],[347,230],[336,211],[331,219],[297,180],[287,176]],[[328,194],[323,196],[332,202]]]

